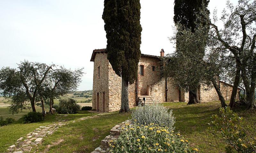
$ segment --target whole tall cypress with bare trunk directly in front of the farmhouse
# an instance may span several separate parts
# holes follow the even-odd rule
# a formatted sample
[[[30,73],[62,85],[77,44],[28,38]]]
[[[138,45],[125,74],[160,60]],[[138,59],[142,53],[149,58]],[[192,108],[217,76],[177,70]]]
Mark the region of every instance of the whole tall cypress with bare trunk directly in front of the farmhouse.
[[[121,112],[128,112],[128,85],[138,77],[141,25],[140,0],[104,0],[102,19],[107,37],[108,60],[122,77]]]

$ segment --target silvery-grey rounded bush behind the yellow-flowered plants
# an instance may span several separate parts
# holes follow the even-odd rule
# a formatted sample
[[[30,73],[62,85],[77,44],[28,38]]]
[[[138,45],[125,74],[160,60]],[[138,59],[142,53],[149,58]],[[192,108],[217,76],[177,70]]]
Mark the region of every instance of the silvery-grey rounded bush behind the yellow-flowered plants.
[[[138,107],[132,111],[132,120],[136,120],[139,124],[155,123],[163,127],[168,127],[173,130],[175,118],[172,115],[172,110],[168,112],[161,104],[150,104],[143,107]]]

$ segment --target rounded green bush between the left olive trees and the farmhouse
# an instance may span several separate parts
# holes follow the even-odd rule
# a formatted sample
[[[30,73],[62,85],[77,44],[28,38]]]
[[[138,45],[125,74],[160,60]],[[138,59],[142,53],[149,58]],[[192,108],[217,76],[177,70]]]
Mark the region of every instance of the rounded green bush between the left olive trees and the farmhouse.
[[[76,100],[72,98],[60,99],[59,105],[58,113],[60,114],[76,114],[80,109],[80,105],[76,104]]]

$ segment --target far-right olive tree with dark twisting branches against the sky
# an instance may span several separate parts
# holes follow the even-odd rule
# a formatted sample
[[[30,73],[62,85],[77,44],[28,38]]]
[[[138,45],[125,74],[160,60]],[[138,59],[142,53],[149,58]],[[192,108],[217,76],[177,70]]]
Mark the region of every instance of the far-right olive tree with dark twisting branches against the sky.
[[[230,62],[235,62],[234,86],[229,106],[235,105],[237,87],[242,77],[250,108],[255,107],[256,87],[256,1],[239,0],[234,6],[227,1],[227,9],[223,10],[221,21],[223,28],[216,25],[218,18],[214,13],[213,20],[207,17],[206,8],[202,11],[202,20],[211,26],[209,38],[215,43],[215,48],[228,54]],[[232,77],[232,76],[231,76]]]

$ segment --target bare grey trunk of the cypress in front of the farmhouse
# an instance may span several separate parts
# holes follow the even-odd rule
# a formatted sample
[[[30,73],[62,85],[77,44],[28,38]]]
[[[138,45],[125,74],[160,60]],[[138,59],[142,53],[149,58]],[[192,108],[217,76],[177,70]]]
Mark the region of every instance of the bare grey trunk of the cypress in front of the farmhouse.
[[[124,80],[122,77],[122,97],[121,97],[121,109],[119,113],[129,112],[129,98],[128,98],[128,81]]]

